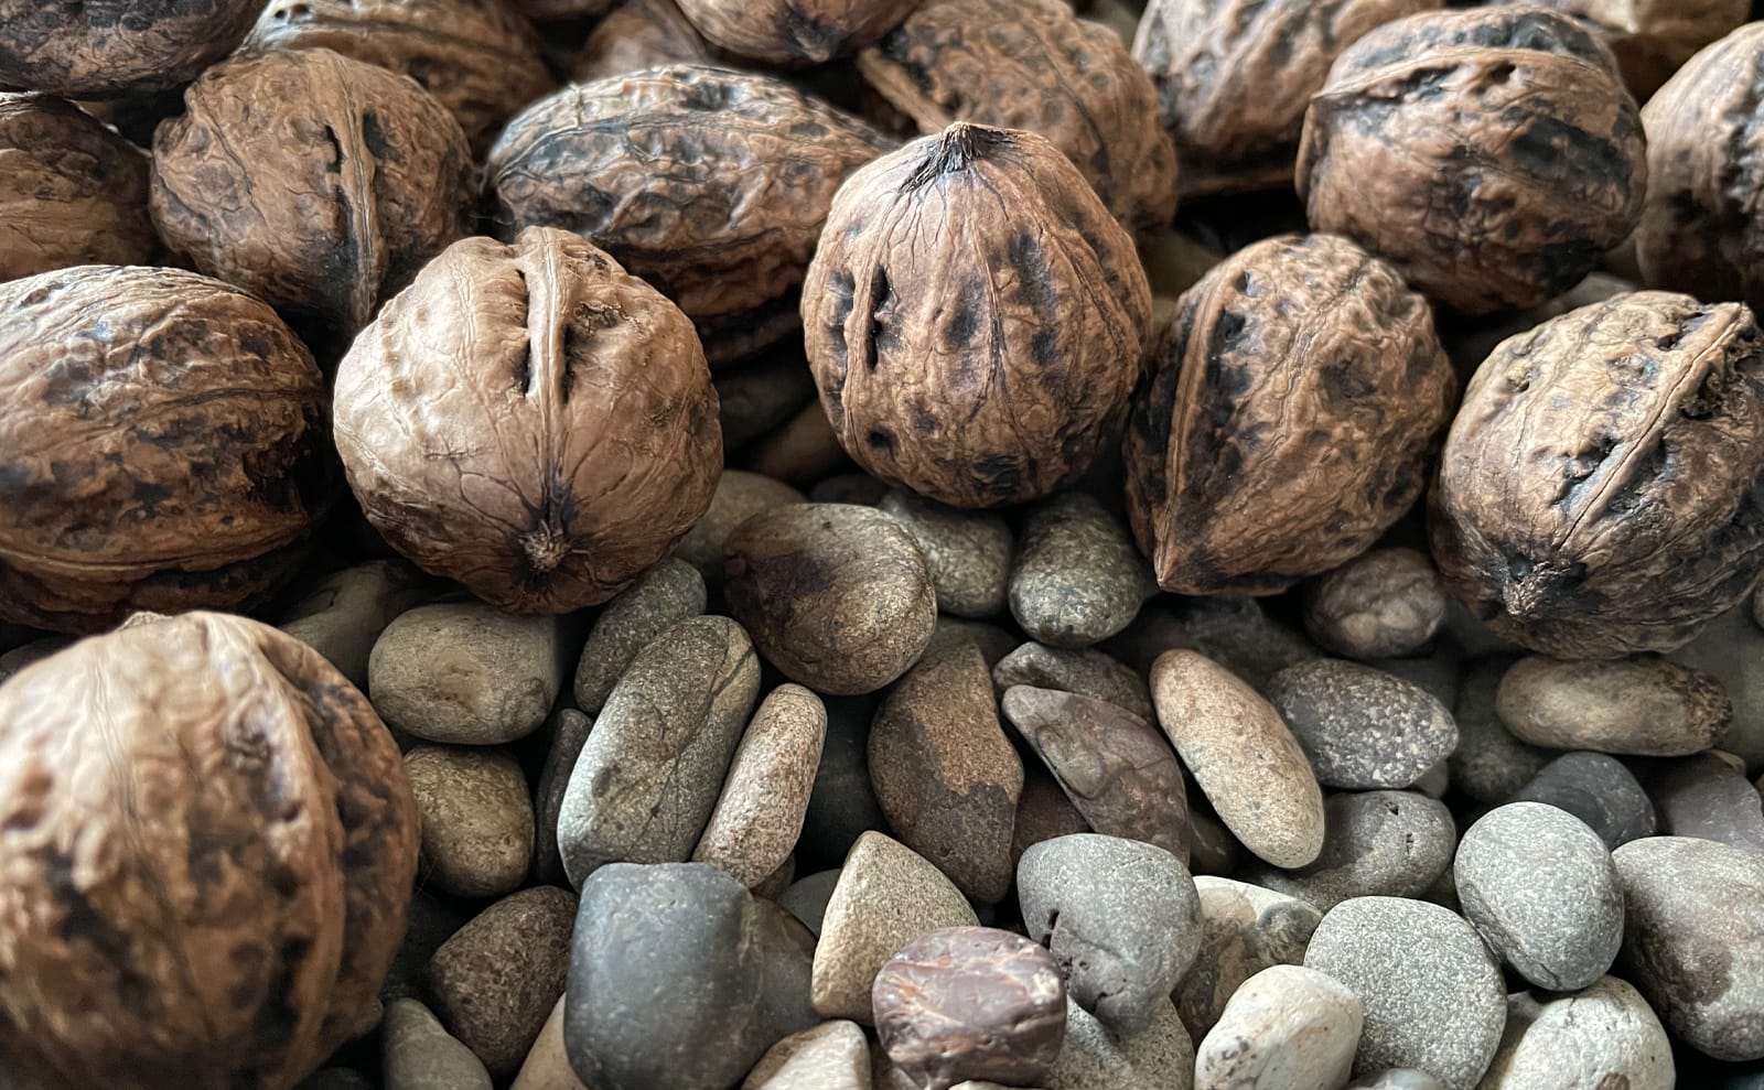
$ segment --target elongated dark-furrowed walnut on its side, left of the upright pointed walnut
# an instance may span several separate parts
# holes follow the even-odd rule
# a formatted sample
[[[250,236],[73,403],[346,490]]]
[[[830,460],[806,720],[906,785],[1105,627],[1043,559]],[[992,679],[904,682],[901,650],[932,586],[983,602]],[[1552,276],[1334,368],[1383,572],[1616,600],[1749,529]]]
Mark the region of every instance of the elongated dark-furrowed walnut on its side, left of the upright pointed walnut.
[[[833,194],[887,148],[789,83],[669,65],[568,86],[490,152],[503,238],[579,231],[699,326],[713,363],[797,328],[797,286]]]

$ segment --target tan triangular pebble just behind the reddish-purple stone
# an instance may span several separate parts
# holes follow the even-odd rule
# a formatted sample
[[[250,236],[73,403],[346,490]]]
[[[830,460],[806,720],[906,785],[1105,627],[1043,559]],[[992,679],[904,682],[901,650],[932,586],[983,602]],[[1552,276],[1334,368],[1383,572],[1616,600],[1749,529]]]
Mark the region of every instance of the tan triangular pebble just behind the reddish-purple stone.
[[[873,1025],[877,972],[926,931],[977,926],[961,891],[907,845],[864,832],[840,868],[815,947],[813,1002],[822,1018]]]

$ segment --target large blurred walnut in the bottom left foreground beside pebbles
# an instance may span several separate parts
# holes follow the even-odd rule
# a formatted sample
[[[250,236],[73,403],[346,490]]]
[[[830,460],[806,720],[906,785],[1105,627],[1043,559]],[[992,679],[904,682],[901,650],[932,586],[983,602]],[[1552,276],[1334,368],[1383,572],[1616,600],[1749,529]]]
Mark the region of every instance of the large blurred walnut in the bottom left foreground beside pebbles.
[[[404,937],[399,748],[316,651],[136,617],[0,686],[0,1055],[46,1086],[293,1086]]]

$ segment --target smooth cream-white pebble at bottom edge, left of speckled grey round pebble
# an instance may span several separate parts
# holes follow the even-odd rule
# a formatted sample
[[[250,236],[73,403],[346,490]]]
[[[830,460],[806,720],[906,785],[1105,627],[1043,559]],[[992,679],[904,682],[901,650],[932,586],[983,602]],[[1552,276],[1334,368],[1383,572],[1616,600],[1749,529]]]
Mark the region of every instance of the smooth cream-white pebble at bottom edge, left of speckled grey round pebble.
[[[1244,981],[1194,1049],[1194,1090],[1335,1090],[1348,1081],[1360,997],[1300,965]]]

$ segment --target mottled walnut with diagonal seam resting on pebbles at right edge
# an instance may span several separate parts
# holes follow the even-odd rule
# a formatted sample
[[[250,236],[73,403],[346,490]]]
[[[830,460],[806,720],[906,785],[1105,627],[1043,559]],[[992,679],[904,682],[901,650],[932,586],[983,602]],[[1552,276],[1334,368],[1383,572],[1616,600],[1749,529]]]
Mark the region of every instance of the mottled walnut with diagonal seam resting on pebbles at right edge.
[[[1434,563],[1556,658],[1671,651],[1764,570],[1764,346],[1739,303],[1635,291],[1484,362],[1431,494]]]

